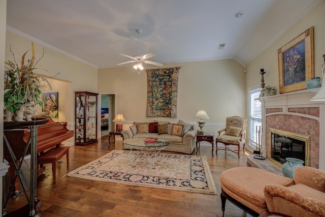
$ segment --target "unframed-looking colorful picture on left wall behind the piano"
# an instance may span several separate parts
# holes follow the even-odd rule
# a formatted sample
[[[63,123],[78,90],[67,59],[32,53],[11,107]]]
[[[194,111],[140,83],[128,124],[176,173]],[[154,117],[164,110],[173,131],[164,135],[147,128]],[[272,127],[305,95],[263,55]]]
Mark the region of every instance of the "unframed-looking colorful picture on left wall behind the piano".
[[[58,92],[45,92],[44,98],[46,99],[43,105],[43,112],[45,112],[45,116],[50,116],[53,118],[58,117]]]

